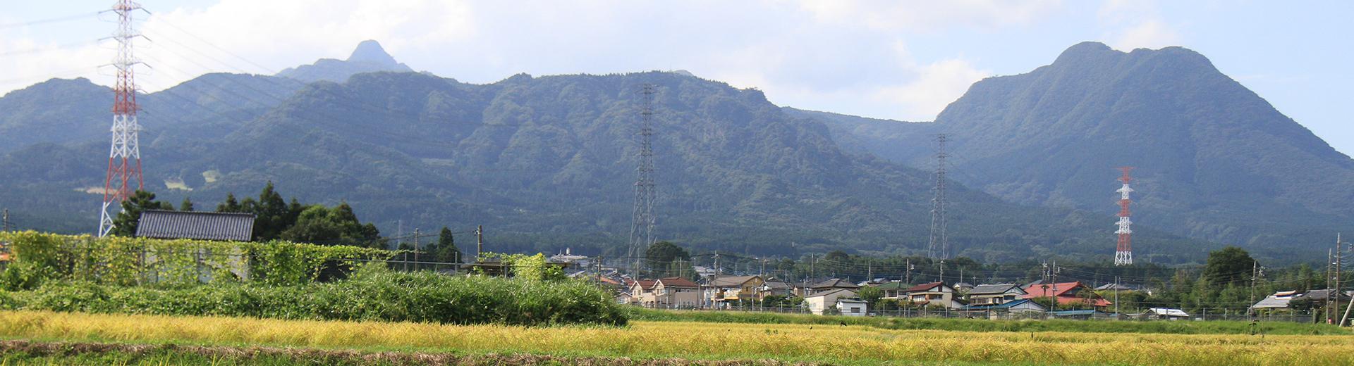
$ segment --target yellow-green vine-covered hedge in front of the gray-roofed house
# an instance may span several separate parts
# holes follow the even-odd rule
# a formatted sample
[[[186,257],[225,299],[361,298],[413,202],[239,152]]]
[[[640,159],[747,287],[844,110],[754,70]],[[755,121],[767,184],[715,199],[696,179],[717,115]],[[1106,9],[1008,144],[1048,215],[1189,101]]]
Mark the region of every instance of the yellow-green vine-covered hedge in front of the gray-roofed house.
[[[395,254],[283,240],[91,238],[35,231],[0,232],[0,242],[9,243],[15,258],[0,273],[0,286],[9,290],[31,289],[47,280],[160,286],[244,281],[301,285],[318,280],[326,267],[351,271],[360,263],[385,261]]]

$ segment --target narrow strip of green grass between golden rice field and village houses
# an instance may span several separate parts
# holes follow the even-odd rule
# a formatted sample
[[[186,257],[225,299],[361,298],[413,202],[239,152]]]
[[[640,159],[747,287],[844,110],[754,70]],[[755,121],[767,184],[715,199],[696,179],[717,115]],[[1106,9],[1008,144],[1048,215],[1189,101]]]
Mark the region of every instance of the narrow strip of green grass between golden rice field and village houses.
[[[971,332],[1104,332],[1104,334],[1251,334],[1250,321],[1113,321],[1113,320],[988,320],[888,316],[818,316],[739,311],[662,311],[630,307],[631,320],[704,321],[739,324],[867,325],[881,330],[937,330]],[[1261,321],[1255,331],[1269,335],[1350,335],[1331,324]]]

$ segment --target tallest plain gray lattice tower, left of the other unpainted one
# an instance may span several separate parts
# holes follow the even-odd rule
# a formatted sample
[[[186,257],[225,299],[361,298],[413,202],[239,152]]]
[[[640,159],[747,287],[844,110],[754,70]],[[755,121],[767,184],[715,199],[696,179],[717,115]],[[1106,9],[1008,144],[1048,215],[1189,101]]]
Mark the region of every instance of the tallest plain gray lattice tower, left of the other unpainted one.
[[[630,223],[630,258],[638,265],[645,249],[657,242],[654,236],[654,85],[645,84],[640,93],[645,97],[639,112],[639,166],[635,167],[635,209]],[[638,266],[635,267],[638,269]],[[635,274],[631,269],[631,274]]]

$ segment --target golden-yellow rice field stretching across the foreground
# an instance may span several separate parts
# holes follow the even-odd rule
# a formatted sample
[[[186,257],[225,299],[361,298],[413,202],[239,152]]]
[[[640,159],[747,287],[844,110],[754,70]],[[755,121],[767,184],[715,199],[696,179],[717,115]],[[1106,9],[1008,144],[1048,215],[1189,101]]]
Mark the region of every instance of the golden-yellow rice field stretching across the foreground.
[[[512,327],[12,311],[0,312],[0,338],[854,365],[1354,365],[1351,335],[975,332],[697,321]]]

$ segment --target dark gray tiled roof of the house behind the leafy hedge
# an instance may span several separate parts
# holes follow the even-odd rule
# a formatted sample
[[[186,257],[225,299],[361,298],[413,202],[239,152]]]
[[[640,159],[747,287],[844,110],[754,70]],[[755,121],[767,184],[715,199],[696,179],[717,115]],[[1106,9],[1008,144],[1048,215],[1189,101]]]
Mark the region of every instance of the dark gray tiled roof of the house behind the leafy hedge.
[[[148,209],[141,212],[137,236],[249,242],[253,220],[253,213]]]

